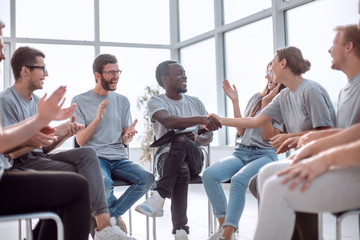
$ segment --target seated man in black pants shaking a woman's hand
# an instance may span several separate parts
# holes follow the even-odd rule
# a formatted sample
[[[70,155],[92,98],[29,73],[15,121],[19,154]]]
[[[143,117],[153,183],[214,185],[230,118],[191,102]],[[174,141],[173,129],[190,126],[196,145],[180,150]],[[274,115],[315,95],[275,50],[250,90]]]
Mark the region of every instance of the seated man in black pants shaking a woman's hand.
[[[168,145],[160,146],[156,155],[160,178],[156,181],[151,197],[136,207],[147,216],[161,216],[165,198],[171,198],[171,214],[175,239],[187,239],[187,191],[191,176],[198,175],[203,166],[203,154],[199,145],[212,140],[212,132],[221,127],[214,117],[207,118],[203,103],[185,94],[187,77],[184,68],[175,61],[164,61],[156,68],[156,79],[165,94],[152,97],[148,102],[148,114],[153,123],[156,138],[169,130],[188,127],[209,131],[199,135],[197,131],[176,135]]]

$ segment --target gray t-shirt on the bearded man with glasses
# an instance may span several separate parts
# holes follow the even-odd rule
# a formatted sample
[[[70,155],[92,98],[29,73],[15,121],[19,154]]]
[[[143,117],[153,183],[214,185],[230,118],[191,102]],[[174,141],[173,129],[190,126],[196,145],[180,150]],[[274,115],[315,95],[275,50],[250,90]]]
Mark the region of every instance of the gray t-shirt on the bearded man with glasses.
[[[72,103],[77,104],[74,113],[76,122],[87,127],[94,120],[99,104],[105,99],[109,100],[105,116],[85,146],[92,147],[99,157],[108,160],[127,159],[121,135],[124,128],[130,127],[132,120],[130,103],[125,96],[115,92],[100,96],[92,90],[75,96]]]

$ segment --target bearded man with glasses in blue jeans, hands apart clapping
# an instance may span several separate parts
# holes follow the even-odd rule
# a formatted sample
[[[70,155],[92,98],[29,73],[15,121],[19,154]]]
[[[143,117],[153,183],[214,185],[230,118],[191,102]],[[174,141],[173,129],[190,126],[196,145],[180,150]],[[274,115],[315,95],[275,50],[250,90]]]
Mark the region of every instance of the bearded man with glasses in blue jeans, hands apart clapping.
[[[105,194],[111,220],[126,232],[121,216],[154,184],[154,175],[140,164],[128,159],[126,147],[137,133],[132,123],[129,100],[115,92],[121,70],[111,54],[94,60],[96,85],[92,90],[75,96],[76,121],[85,125],[76,134],[80,146],[95,149],[104,179]],[[125,180],[131,186],[119,199],[114,196],[113,179]]]

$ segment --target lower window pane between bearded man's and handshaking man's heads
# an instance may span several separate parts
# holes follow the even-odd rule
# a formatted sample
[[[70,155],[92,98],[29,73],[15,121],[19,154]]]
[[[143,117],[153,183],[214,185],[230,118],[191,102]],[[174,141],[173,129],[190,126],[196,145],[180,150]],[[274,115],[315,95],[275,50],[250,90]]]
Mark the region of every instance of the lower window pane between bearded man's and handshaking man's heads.
[[[146,86],[157,86],[155,69],[157,65],[170,58],[170,51],[164,49],[117,48],[102,47],[101,53],[116,56],[122,74],[116,92],[126,96],[130,101],[132,119],[138,119],[136,130],[138,134],[131,146],[138,147],[144,136],[145,121],[143,110],[137,108],[137,99],[145,93]],[[138,57],[134,57],[138,56]]]

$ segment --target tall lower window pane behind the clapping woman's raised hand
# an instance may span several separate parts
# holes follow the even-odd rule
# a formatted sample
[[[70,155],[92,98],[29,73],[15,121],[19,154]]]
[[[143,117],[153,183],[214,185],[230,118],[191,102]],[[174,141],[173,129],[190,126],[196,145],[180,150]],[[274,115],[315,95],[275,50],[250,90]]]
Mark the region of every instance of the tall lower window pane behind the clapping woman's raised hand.
[[[272,60],[274,52],[272,39],[271,18],[225,34],[226,78],[237,88],[241,113],[244,113],[250,98],[266,86],[266,66]],[[227,113],[229,117],[234,116],[229,99]],[[230,145],[235,143],[235,134],[235,128],[228,128]]]

